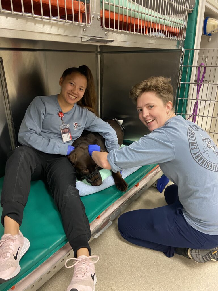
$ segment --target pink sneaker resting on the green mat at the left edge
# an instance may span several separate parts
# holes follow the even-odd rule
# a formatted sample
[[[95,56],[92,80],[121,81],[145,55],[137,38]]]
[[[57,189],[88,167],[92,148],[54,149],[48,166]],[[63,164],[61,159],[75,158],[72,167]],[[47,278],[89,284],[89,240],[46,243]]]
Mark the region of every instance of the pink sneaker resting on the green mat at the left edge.
[[[0,240],[0,283],[8,281],[20,272],[19,260],[26,253],[30,242],[19,231],[18,235],[7,233]]]

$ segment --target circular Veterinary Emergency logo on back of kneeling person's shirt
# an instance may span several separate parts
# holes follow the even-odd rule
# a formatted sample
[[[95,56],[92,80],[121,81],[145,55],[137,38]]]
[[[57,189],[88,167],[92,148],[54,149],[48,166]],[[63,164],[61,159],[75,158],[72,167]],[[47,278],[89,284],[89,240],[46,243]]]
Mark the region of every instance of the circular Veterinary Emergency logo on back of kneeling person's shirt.
[[[193,159],[203,168],[218,172],[218,149],[210,136],[198,125],[189,125],[187,134]]]

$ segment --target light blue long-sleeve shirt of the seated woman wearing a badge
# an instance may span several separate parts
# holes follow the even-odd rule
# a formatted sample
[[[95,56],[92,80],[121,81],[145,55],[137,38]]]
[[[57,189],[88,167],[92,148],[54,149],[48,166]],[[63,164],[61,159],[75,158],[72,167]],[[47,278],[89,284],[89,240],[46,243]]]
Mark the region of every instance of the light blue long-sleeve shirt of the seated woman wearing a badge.
[[[60,133],[59,126],[62,125],[62,121],[58,111],[61,111],[58,95],[35,97],[26,110],[19,129],[18,141],[22,145],[31,146],[45,153],[67,155],[68,145],[71,145],[81,136],[83,129],[86,129],[101,134],[105,138],[109,152],[119,148],[114,129],[94,113],[77,104],[64,113],[63,120],[65,124],[70,125],[73,139],[64,143]]]

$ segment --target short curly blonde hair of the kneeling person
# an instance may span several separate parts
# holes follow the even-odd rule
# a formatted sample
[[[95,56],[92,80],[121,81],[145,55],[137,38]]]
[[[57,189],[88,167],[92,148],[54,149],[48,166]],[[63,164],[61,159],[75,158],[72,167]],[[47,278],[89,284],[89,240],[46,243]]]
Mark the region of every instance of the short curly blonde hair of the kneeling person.
[[[155,92],[157,97],[160,98],[164,104],[167,104],[169,101],[174,104],[173,87],[170,78],[162,76],[150,77],[133,86],[130,90],[129,97],[133,100],[133,103],[136,104],[137,98],[141,96],[142,93],[148,91]],[[174,108],[172,108],[172,110],[175,111]]]

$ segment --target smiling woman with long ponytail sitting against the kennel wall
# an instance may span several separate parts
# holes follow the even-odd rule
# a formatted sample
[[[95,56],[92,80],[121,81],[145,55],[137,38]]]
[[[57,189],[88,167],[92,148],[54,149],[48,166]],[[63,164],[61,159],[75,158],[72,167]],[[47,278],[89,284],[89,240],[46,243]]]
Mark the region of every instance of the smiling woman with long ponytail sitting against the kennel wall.
[[[0,282],[19,273],[19,260],[31,243],[19,227],[34,177],[34,180],[46,181],[51,189],[74,251],[74,273],[67,291],[94,291],[97,280],[94,264],[99,257],[90,256],[90,225],[75,188],[75,169],[66,156],[74,150],[72,143],[84,129],[101,134],[108,152],[119,148],[119,144],[114,129],[97,117],[97,97],[90,69],[86,65],[68,68],[59,84],[60,94],[37,96],[31,102],[19,130],[21,146],[10,153],[7,161],[1,194],[1,223],[5,230],[0,240],[0,257],[8,259],[0,261]],[[17,260],[13,254],[17,254]]]

